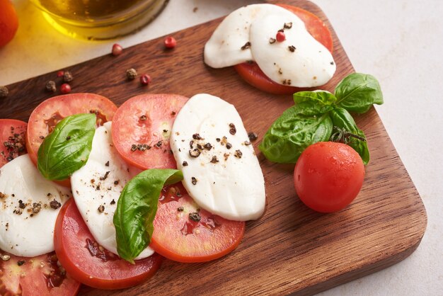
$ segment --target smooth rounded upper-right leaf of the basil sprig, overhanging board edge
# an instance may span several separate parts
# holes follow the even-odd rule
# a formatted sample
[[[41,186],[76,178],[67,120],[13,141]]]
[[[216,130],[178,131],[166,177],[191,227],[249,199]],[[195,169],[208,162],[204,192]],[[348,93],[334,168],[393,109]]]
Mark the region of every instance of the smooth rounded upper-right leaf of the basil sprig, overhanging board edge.
[[[350,112],[365,113],[372,104],[383,103],[379,81],[369,74],[352,73],[335,88],[336,105]]]

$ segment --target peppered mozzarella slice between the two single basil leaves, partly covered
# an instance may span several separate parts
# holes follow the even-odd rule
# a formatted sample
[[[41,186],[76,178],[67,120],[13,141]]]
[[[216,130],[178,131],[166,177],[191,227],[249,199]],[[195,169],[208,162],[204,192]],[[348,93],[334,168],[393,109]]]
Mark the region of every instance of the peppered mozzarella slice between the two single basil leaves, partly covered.
[[[117,254],[113,217],[125,184],[139,171],[130,169],[113,147],[111,123],[98,127],[86,164],[72,174],[71,187],[81,216],[94,239]],[[154,254],[147,247],[137,259]]]

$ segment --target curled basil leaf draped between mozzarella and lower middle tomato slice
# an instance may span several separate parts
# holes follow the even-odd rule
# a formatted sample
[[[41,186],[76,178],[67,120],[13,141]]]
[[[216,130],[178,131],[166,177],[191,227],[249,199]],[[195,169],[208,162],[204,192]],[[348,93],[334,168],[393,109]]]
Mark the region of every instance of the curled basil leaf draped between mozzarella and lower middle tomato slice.
[[[120,257],[134,263],[134,258],[149,245],[161,188],[181,180],[182,171],[149,169],[126,184],[113,218]]]

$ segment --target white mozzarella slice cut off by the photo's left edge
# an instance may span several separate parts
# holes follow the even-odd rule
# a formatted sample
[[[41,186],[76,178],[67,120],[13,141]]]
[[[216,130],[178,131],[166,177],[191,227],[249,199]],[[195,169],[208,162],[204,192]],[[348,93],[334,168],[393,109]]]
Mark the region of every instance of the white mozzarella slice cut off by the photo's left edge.
[[[54,251],[54,225],[69,188],[45,179],[28,154],[0,169],[0,249],[33,257]]]

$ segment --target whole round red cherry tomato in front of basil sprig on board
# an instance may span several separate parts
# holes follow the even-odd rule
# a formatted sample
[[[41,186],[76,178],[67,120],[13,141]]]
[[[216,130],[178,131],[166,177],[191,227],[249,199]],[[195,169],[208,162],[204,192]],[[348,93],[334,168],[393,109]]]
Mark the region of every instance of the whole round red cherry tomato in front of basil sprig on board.
[[[335,212],[352,203],[363,179],[362,159],[343,143],[312,144],[301,153],[294,169],[297,195],[317,212]]]

